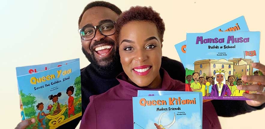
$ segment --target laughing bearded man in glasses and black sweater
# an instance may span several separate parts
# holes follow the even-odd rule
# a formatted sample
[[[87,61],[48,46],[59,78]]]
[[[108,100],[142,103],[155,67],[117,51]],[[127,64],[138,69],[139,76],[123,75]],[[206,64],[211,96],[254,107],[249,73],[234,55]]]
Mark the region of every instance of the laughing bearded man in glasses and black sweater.
[[[82,111],[85,111],[91,95],[104,93],[119,83],[115,77],[122,72],[122,67],[119,60],[118,48],[116,46],[115,32],[105,33],[104,29],[114,27],[114,21],[116,21],[120,14],[121,10],[115,5],[108,2],[96,1],[89,3],[79,18],[79,32],[81,36],[82,50],[89,62],[91,62],[91,64],[87,67],[81,69]],[[171,78],[185,83],[185,69],[180,62],[163,57],[161,67],[169,73]],[[260,68],[263,72],[265,72],[265,66],[261,66],[261,64],[257,64],[257,67],[255,68]],[[259,77],[259,79],[264,80],[263,84],[265,84],[265,77]],[[251,80],[252,79],[257,78],[251,78]],[[235,116],[252,110],[264,108],[265,105],[263,103],[265,102],[265,94],[263,94],[263,96],[263,98],[257,98],[257,102],[248,102],[248,105],[245,101],[222,102],[216,100],[211,102],[213,103],[219,116]],[[246,97],[248,97],[248,95]],[[209,102],[209,104],[211,102]],[[226,103],[227,106],[224,105],[224,103]],[[240,109],[239,105],[244,106],[244,110]],[[251,107],[249,105],[258,107]],[[239,111],[230,112],[231,108],[235,111]],[[75,128],[80,119],[81,117],[74,119],[59,128]],[[17,128],[26,128],[26,126],[34,122],[35,119],[25,120],[20,122]],[[215,123],[212,123],[212,128],[215,127],[221,128],[220,124],[218,125],[217,123],[215,126]]]

